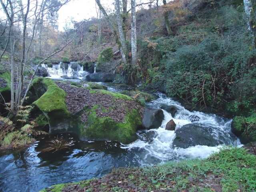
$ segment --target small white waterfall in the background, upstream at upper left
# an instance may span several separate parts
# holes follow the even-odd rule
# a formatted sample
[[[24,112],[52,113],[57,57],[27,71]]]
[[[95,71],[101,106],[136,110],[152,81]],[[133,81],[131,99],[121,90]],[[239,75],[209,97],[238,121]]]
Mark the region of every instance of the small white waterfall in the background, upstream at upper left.
[[[89,72],[84,71],[84,67],[78,62],[70,62],[69,64],[60,62],[58,64],[52,64],[52,67],[48,67],[46,64],[41,64],[42,67],[46,68],[49,78],[54,79],[80,79],[84,78]]]

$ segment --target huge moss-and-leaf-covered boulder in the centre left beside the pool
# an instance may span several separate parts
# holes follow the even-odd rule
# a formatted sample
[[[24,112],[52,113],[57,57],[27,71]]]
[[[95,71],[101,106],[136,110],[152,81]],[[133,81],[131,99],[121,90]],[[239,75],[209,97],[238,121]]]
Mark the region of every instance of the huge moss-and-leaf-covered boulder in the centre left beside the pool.
[[[36,109],[47,117],[52,133],[71,131],[82,138],[127,144],[136,139],[136,131],[142,126],[143,107],[120,93],[37,78],[29,96]]]

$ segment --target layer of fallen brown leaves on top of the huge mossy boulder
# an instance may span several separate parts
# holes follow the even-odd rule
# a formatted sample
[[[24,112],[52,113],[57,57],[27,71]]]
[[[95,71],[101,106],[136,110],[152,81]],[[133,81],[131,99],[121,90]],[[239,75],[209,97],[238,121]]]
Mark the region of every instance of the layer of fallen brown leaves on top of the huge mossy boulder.
[[[136,101],[114,98],[100,92],[90,93],[90,90],[74,87],[68,83],[56,82],[56,84],[66,92],[66,104],[71,114],[77,114],[86,106],[91,109],[98,105],[99,108],[96,109],[98,117],[110,117],[115,122],[124,122],[126,114],[132,109],[137,109],[141,115],[143,113],[143,107]],[[86,112],[81,114],[81,120],[83,122],[88,120]]]

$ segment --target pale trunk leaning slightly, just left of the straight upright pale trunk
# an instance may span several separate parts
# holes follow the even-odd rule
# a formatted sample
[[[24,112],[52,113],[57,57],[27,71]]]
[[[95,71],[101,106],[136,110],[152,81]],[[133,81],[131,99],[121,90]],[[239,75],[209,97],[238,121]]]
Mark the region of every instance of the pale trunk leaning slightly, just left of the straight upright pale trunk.
[[[121,20],[121,14],[120,14],[120,1],[119,0],[116,0],[116,21],[117,21],[117,26],[118,26],[119,38],[120,38],[120,42],[122,45],[122,52],[121,52],[122,59],[123,59],[124,63],[126,63],[127,50],[126,50],[124,32],[123,32],[123,27],[122,27],[122,20]]]

